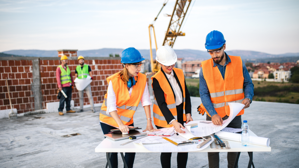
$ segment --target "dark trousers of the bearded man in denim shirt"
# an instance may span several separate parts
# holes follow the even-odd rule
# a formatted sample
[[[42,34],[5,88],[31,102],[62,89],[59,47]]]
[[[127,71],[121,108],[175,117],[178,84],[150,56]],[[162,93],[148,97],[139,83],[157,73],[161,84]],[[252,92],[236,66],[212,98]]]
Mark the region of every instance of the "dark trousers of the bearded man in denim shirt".
[[[222,120],[228,119],[228,116],[224,116]],[[212,121],[212,118],[207,115],[207,121]],[[236,116],[229,124],[229,128],[241,128],[242,119],[241,115]],[[227,152],[227,167],[233,168],[238,152]],[[209,168],[219,168],[219,152],[208,152]],[[237,166],[238,167],[238,166]]]

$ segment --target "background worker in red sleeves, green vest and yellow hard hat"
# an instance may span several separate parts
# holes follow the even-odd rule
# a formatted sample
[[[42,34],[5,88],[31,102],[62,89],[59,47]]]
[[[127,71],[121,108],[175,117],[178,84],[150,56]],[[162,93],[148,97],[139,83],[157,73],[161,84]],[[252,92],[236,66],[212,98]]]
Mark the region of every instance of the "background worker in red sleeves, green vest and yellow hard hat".
[[[75,112],[74,110],[71,110],[72,87],[74,87],[74,83],[72,83],[73,77],[70,69],[68,68],[68,57],[64,55],[60,58],[60,60],[61,65],[59,65],[56,69],[56,80],[59,90],[63,90],[63,92],[67,95],[67,98],[65,98],[64,95],[61,96],[58,111],[59,115],[64,115],[62,112],[64,102],[66,113]]]

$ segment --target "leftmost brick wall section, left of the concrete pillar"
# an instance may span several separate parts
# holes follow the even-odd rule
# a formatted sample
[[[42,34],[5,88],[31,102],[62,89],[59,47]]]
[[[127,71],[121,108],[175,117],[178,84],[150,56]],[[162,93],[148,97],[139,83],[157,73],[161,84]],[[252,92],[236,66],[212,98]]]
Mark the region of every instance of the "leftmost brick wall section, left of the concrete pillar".
[[[31,92],[32,61],[1,60],[0,66],[0,110],[10,109],[6,80],[8,82],[11,104],[18,113],[34,111]]]

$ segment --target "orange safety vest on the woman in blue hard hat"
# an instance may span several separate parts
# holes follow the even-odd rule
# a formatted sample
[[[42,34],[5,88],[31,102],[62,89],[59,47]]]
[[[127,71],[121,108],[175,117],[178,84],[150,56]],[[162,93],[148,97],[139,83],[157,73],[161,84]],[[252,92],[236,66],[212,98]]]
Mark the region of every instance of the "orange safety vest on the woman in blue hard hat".
[[[116,95],[116,109],[119,115],[120,120],[125,125],[130,125],[133,123],[133,115],[137,110],[138,104],[141,100],[141,97],[144,92],[145,84],[147,82],[147,76],[138,73],[138,82],[133,86],[133,90],[131,93],[131,97],[129,95],[127,85],[124,84],[123,80],[120,78],[119,73],[115,73],[114,75],[106,78],[108,84],[112,81],[113,90]],[[135,80],[137,80],[135,76]],[[107,110],[107,93],[104,96],[104,101],[100,110],[100,121],[112,125],[114,127],[118,127],[118,124],[114,121],[112,116],[106,114]]]

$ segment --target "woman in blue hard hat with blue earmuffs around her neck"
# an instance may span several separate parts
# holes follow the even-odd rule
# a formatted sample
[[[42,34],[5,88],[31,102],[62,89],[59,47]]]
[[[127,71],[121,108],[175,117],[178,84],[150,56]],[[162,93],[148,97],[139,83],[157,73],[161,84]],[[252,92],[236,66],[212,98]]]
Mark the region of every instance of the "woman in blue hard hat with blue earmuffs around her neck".
[[[139,73],[144,58],[134,47],[127,48],[121,53],[123,70],[107,78],[108,89],[100,110],[100,125],[103,133],[119,128],[123,134],[134,127],[133,115],[141,101],[147,118],[145,131],[158,131],[152,127],[146,75]],[[135,153],[126,152],[125,161],[128,168],[133,167]],[[110,157],[112,167],[118,167],[117,153]]]

